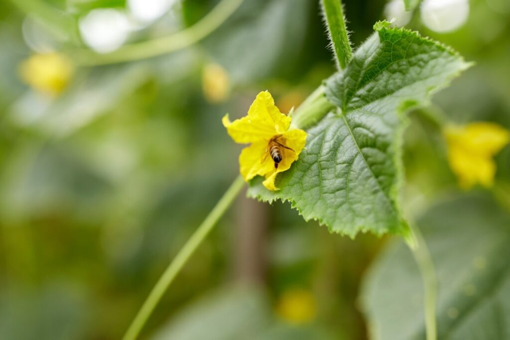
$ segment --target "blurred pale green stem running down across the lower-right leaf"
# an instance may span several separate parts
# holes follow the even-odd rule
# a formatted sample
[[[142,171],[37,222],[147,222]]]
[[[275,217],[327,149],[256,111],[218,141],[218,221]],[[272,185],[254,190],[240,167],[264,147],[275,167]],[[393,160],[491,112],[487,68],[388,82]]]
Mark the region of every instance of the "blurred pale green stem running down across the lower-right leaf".
[[[418,264],[423,280],[426,339],[437,340],[436,300],[438,283],[436,269],[432,261],[432,256],[430,256],[430,251],[427,248],[427,243],[425,242],[420,230],[416,227],[412,227],[412,231],[418,245],[410,248],[416,259],[416,263]]]

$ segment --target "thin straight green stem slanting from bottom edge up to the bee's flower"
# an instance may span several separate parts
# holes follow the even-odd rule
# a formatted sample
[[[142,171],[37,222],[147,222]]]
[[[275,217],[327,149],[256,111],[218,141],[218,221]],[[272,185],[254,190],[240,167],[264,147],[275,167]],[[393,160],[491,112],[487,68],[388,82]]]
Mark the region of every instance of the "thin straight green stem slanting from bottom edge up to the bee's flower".
[[[179,251],[179,253],[177,253],[154,288],[152,288],[152,291],[138,311],[135,319],[127,329],[123,340],[135,340],[137,338],[150,314],[158,302],[161,300],[163,294],[168,289],[168,286],[172,283],[177,274],[179,274],[181,269],[184,267],[188,259],[191,257],[191,255],[193,255],[202,241],[205,240],[216,222],[218,222],[228,207],[230,207],[243,187],[244,180],[241,176],[238,176],[230,188],[228,188],[228,190],[225,192],[223,197],[221,197],[218,203],[216,203],[213,210],[209,213],[206,219],[203,220],[202,224],[200,224],[198,229],[195,230],[183,248]]]

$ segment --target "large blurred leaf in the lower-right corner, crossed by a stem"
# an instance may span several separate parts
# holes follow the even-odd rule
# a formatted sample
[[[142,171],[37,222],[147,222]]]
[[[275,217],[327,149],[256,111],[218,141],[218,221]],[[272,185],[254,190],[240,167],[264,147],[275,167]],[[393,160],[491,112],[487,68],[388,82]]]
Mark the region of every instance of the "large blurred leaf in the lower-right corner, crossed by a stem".
[[[438,277],[438,339],[510,338],[510,216],[493,199],[456,197],[418,221]],[[392,243],[365,279],[373,338],[424,339],[423,284],[408,247]]]

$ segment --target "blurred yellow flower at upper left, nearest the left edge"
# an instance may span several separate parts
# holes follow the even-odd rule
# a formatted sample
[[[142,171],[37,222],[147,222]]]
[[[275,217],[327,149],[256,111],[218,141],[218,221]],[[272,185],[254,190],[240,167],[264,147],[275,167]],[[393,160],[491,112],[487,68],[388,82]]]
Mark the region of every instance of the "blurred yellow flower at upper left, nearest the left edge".
[[[34,89],[55,96],[68,85],[73,73],[69,59],[58,53],[36,54],[21,63],[21,79]]]

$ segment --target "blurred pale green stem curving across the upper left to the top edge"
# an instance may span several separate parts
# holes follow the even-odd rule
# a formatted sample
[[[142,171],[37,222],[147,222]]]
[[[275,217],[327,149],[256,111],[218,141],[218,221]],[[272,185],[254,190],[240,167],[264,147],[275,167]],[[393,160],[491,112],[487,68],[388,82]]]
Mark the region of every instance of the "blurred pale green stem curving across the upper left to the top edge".
[[[124,45],[108,54],[83,49],[70,51],[82,66],[106,65],[164,55],[188,47],[207,37],[234,13],[243,0],[222,0],[211,12],[191,27],[167,37]]]

